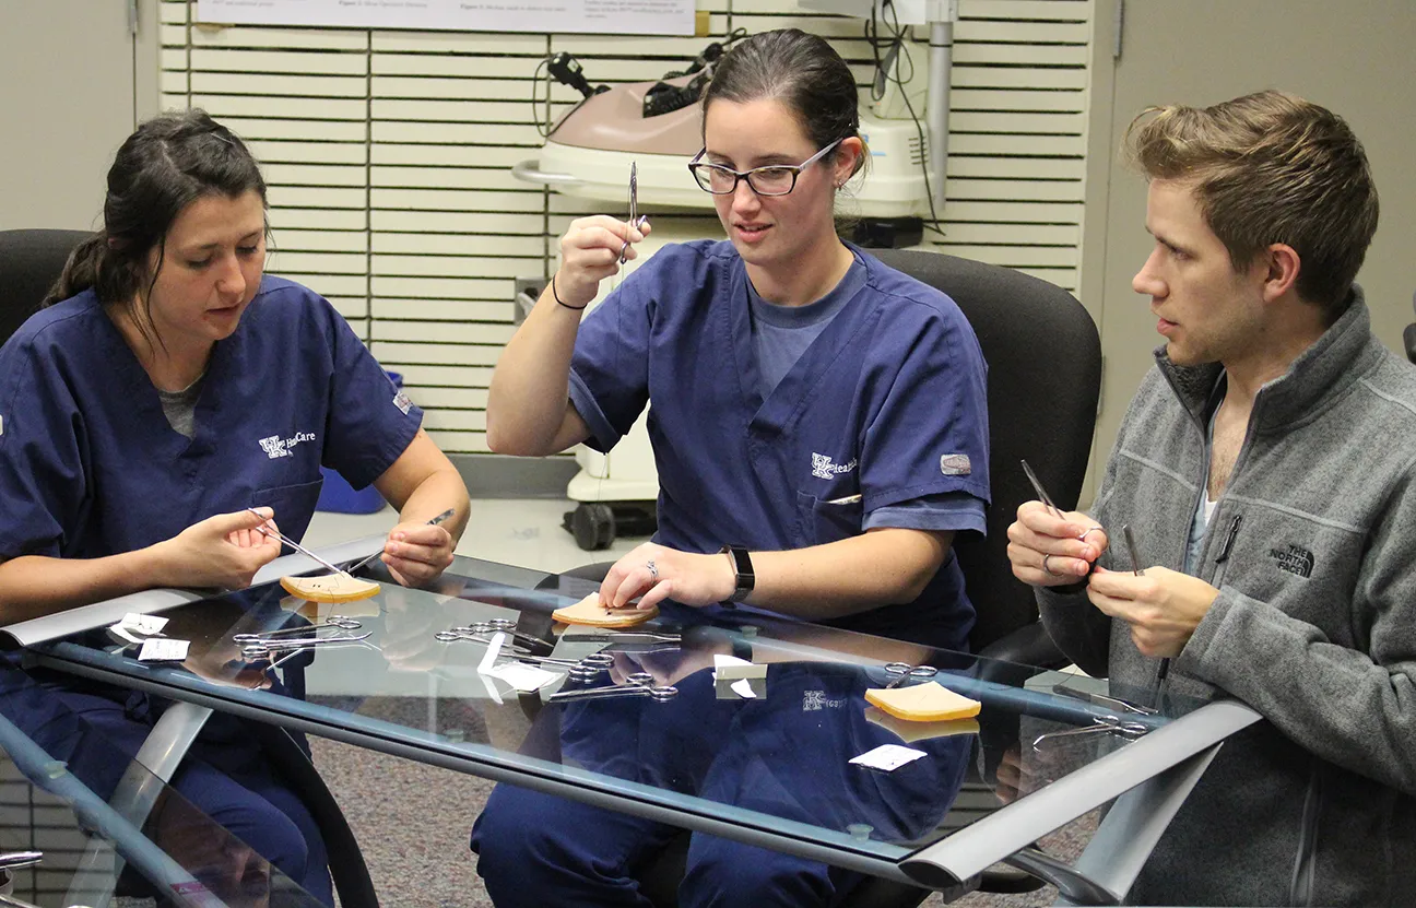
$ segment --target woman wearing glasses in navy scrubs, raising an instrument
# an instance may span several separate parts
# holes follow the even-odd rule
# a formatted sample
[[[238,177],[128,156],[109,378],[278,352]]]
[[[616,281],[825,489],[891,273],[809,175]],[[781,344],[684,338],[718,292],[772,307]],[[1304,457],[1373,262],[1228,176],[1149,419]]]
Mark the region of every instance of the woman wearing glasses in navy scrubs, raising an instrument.
[[[964,649],[950,544],[984,530],[986,368],[952,300],[835,232],[867,153],[855,79],[826,41],[773,31],[719,61],[702,105],[690,167],[728,241],[666,246],[582,322],[647,228],[575,221],[497,365],[489,443],[609,450],[651,404],[658,531],[609,571],[606,603],[732,601]],[[661,829],[501,788],[473,847],[498,905],[643,904],[630,868]],[[688,880],[681,904],[824,905],[854,877],[695,837]]]

